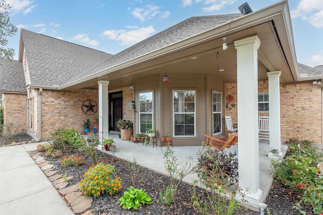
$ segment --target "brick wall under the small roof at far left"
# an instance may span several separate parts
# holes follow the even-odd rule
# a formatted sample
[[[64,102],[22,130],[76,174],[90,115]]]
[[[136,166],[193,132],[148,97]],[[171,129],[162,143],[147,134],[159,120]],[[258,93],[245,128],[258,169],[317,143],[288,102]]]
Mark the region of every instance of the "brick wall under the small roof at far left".
[[[5,131],[12,123],[12,133],[26,133],[26,98],[25,94],[3,94],[3,119]],[[7,126],[6,126],[7,125]]]

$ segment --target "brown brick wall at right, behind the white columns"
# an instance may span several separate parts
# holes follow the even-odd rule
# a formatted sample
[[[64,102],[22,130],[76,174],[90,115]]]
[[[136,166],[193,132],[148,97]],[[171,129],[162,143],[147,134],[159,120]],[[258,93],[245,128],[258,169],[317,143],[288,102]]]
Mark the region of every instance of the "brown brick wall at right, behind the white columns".
[[[281,139],[298,138],[312,140],[321,144],[321,88],[311,82],[284,85],[280,87],[281,95]],[[258,82],[258,93],[268,92],[268,81]],[[232,121],[237,121],[237,84],[225,84],[226,97],[235,97],[236,107],[225,109],[225,115],[231,115]],[[225,106],[225,105],[224,105]],[[268,112],[259,112],[268,115]]]

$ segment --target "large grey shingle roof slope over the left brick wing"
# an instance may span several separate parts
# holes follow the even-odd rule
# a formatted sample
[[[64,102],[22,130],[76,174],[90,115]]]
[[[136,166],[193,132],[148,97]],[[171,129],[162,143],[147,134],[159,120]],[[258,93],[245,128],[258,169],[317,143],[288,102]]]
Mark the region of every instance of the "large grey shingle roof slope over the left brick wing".
[[[21,29],[31,85],[57,87],[113,56]]]

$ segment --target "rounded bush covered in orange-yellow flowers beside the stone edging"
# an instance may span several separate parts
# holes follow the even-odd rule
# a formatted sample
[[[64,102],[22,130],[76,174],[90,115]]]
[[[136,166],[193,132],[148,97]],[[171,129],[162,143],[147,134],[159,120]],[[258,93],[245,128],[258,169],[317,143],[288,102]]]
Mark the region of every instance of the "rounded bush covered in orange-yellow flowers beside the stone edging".
[[[99,197],[103,193],[113,195],[121,188],[121,179],[115,175],[115,166],[98,163],[82,176],[79,187],[84,195]]]

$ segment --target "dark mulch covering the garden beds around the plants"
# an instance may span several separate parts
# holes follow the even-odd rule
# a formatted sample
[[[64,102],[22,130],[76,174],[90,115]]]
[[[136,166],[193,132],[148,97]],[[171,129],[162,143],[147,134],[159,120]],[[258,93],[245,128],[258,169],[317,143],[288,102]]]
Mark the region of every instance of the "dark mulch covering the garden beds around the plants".
[[[26,139],[23,139],[26,138]],[[29,136],[19,136],[19,141],[29,140]],[[18,141],[17,141],[18,142]],[[4,146],[0,139],[0,146]],[[70,153],[71,154],[71,153]],[[83,164],[79,167],[64,168],[60,165],[60,160],[67,154],[62,155],[59,158],[46,158],[58,170],[58,173],[66,174],[67,176],[73,176],[74,178],[69,181],[70,185],[76,184],[80,181],[82,176],[91,165],[91,161],[86,158],[85,155],[74,151],[73,155],[79,155],[83,158]],[[190,198],[192,186],[187,183],[181,183],[175,203],[170,206],[161,206],[159,192],[164,191],[164,187],[167,186],[169,179],[167,176],[156,173],[149,169],[135,166],[130,168],[131,163],[122,159],[113,158],[110,155],[102,154],[101,161],[105,163],[113,163],[116,166],[116,173],[122,179],[122,190],[110,196],[107,194],[102,195],[100,198],[94,198],[92,202],[92,213],[96,214],[114,214],[114,215],[126,215],[126,214],[199,214],[195,212],[192,207]],[[138,210],[125,210],[118,205],[118,199],[123,195],[126,188],[134,186],[136,188],[144,188],[148,195],[152,199],[151,205],[141,206]],[[294,204],[299,201],[297,193],[291,189],[285,187],[280,183],[274,183],[269,195],[266,198],[265,203],[271,211],[272,215],[280,214],[300,214],[297,210],[292,209]],[[307,207],[309,211],[309,207]],[[242,214],[255,215],[259,212],[252,210],[245,210]]]

